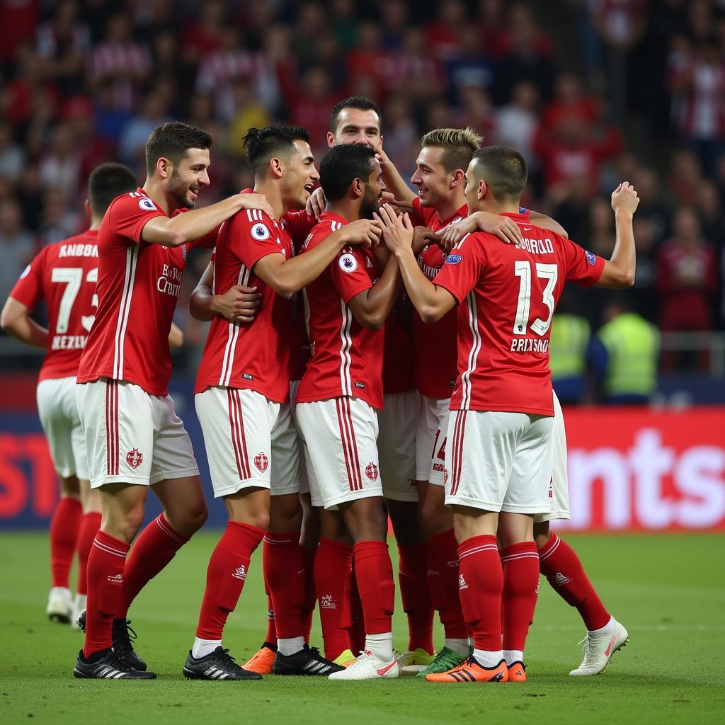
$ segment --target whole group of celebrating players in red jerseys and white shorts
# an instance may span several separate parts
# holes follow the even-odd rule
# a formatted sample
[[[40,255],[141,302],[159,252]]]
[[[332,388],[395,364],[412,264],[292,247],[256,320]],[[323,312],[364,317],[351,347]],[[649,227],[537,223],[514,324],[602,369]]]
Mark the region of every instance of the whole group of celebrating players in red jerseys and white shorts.
[[[80,614],[73,674],[155,677],[128,609],[207,518],[167,391],[191,247],[214,250],[191,299],[211,321],[195,402],[229,521],[183,674],[523,682],[539,573],[587,629],[571,674],[600,673],[627,632],[549,530],[568,518],[568,491],[548,344],[565,281],[634,281],[634,188],[612,194],[603,260],[521,208],[523,157],[471,129],[423,136],[417,195],[386,157],[370,99],[336,105],[319,172],[308,141],[305,128],[250,130],[254,189],[194,210],[212,138],[159,126],[144,186],[122,165],[94,170],[91,228],[43,249],[6,302],[3,328],[47,349],[38,410],[63,492],[47,613]],[[47,329],[29,316],[43,297]],[[149,487],[163,513],[138,533]],[[388,516],[404,653],[392,646]],[[268,633],[242,667],[223,628],[260,542]],[[309,645],[316,604],[324,656]]]

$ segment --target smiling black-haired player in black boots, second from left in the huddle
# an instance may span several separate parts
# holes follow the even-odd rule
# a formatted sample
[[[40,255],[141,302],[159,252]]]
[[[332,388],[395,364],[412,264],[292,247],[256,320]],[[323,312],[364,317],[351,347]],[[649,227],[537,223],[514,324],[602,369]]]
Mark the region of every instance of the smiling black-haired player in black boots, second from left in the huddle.
[[[294,434],[289,405],[291,298],[345,245],[372,244],[379,232],[363,220],[331,235],[313,253],[295,257],[285,215],[305,208],[319,178],[307,130],[282,125],[252,129],[244,146],[254,191],[268,199],[272,212],[235,215],[220,231],[214,252],[213,292],[223,294],[244,284],[257,288],[262,297],[248,325],[220,316],[212,320],[196,378],[196,413],[212,485],[215,496],[225,502],[229,523],[210,558],[196,639],[183,673],[193,679],[259,679],[260,674],[233,663],[221,640],[252,552],[264,538],[269,547],[263,568],[277,637],[273,672],[327,675],[341,667],[305,644],[305,563],[299,545],[301,515],[296,515],[300,483],[297,447],[289,441],[289,432]],[[278,515],[268,529],[270,494],[278,509],[291,510],[289,521]]]

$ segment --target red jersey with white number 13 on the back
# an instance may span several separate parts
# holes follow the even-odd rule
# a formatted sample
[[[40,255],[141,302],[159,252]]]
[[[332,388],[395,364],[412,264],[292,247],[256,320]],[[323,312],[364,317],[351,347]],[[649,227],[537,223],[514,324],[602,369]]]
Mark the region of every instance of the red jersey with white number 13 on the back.
[[[465,236],[436,285],[459,302],[458,371],[451,410],[553,415],[549,336],[564,283],[595,284],[604,260],[577,244],[507,214],[523,244],[491,234]]]

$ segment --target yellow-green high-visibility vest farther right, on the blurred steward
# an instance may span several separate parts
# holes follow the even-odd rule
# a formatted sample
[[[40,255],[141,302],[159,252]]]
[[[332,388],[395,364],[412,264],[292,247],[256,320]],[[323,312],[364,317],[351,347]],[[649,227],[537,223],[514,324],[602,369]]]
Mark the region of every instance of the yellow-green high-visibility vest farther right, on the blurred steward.
[[[609,360],[607,395],[651,395],[657,387],[660,331],[634,312],[619,315],[598,333]]]

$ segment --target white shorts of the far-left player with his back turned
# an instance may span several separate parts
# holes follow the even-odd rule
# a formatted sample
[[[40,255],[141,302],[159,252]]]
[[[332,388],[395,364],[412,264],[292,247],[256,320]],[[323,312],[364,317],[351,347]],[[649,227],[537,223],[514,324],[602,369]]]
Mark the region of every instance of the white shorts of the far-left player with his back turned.
[[[41,380],[36,399],[55,472],[62,479],[76,476],[88,481],[86,440],[75,405],[75,377]]]

